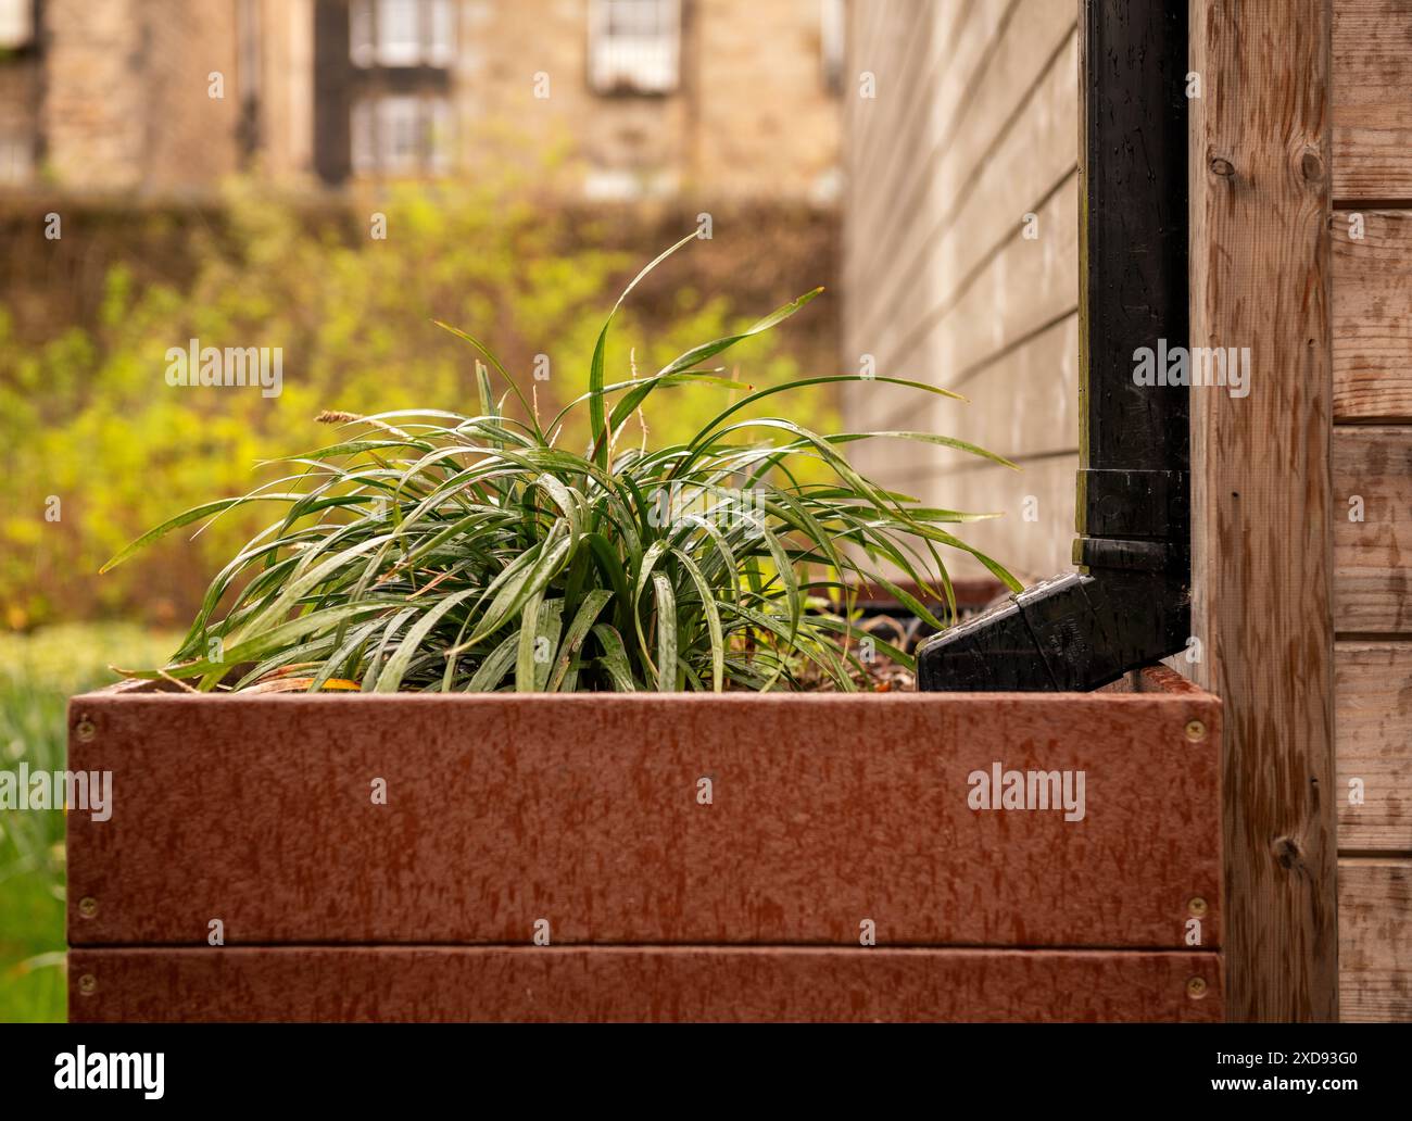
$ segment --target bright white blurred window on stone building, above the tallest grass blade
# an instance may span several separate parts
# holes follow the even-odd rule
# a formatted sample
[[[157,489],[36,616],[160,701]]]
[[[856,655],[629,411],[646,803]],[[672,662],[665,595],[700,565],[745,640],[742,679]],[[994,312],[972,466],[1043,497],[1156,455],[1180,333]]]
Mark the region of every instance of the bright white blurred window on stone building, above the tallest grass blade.
[[[681,0],[592,0],[589,85],[597,93],[671,93],[681,45]]]

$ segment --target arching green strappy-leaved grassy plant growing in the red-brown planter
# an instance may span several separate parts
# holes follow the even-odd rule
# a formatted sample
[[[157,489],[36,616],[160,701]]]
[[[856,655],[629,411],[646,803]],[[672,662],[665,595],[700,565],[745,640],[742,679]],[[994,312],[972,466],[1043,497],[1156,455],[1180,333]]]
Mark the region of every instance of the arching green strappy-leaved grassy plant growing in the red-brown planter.
[[[1000,565],[942,528],[991,515],[887,491],[842,448],[908,439],[1007,460],[931,433],[825,436],[781,416],[746,415],[775,394],[861,377],[754,391],[706,364],[820,289],[655,374],[609,381],[613,316],[689,240],[623,292],[597,336],[586,392],[546,424],[480,342],[446,328],[504,378],[503,397],[477,359],[474,415],[325,414],[354,431],[280,460],[291,473],[274,483],[188,510],[128,545],[106,568],[234,507],[287,507],[216,576],[171,664],[147,675],[202,690],[765,690],[818,679],[853,689],[864,635],[846,599],[843,610],[825,606],[846,596],[851,577],[881,585],[936,627],[945,624],[928,600],[955,613],[940,549],[970,552],[1014,586]],[[648,450],[642,408],[658,390],[723,392],[727,402],[690,439]],[[505,411],[511,395],[518,415]],[[559,446],[579,408],[589,414],[583,453]],[[826,479],[805,481],[805,462]],[[921,596],[885,579],[884,565]],[[902,651],[871,641],[909,665]]]

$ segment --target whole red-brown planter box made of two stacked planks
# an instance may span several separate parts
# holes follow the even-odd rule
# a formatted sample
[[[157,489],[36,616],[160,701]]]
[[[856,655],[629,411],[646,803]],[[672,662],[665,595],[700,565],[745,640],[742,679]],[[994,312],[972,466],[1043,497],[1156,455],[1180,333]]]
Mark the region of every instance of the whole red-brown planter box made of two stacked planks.
[[[1220,705],[1168,671],[69,719],[75,1021],[1223,1018]]]

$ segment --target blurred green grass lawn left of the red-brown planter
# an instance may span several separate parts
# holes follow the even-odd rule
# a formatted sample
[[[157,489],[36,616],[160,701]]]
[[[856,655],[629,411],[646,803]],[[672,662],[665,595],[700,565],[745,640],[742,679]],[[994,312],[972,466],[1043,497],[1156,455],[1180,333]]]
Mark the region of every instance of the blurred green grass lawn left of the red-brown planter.
[[[69,696],[175,645],[121,624],[0,634],[0,769],[62,769]],[[64,1018],[64,813],[0,809],[0,1022]]]

